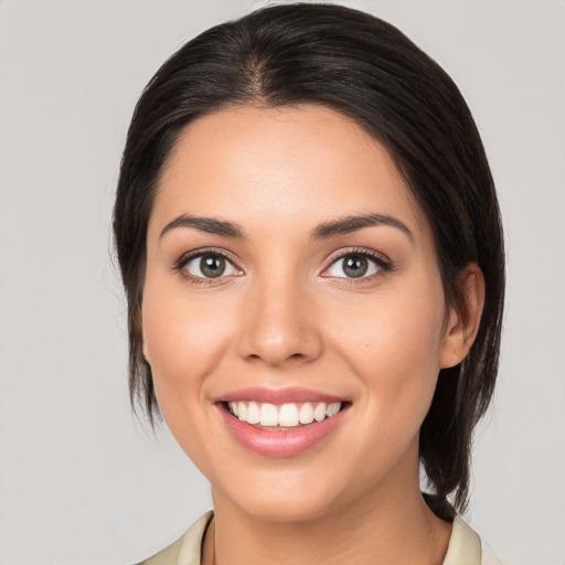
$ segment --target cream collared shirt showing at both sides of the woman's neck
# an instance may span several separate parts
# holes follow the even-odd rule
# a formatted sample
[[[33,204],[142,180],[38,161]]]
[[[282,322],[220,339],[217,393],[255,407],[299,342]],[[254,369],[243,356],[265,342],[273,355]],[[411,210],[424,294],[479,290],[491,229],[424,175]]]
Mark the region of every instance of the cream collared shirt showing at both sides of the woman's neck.
[[[201,565],[202,540],[213,515],[212,511],[206,512],[179,540],[139,565]],[[498,565],[499,563],[489,551],[483,555],[480,537],[461,518],[456,515],[443,565]]]

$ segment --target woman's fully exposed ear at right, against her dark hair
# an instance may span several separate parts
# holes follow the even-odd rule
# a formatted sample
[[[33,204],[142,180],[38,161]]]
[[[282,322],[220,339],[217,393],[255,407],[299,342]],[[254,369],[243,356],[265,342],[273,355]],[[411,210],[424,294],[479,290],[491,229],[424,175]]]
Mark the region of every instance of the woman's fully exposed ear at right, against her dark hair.
[[[484,276],[476,263],[469,263],[459,274],[461,303],[449,308],[449,317],[441,341],[439,367],[460,363],[475,342],[484,307]]]

